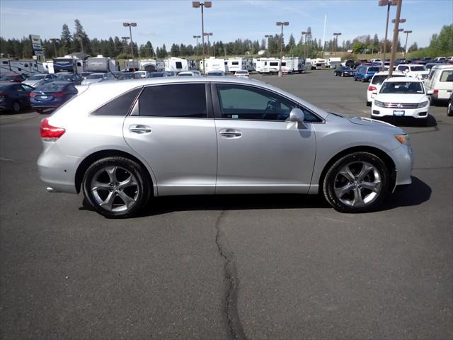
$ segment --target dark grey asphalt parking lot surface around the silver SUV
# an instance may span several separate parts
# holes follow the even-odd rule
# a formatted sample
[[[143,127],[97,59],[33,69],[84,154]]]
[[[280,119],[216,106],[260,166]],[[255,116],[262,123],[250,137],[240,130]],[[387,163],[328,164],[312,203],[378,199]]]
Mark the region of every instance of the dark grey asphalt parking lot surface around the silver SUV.
[[[253,76],[369,116],[331,71]],[[168,197],[108,220],[45,192],[40,118],[0,115],[1,339],[453,339],[453,118],[411,136],[413,184],[377,212],[314,196]]]

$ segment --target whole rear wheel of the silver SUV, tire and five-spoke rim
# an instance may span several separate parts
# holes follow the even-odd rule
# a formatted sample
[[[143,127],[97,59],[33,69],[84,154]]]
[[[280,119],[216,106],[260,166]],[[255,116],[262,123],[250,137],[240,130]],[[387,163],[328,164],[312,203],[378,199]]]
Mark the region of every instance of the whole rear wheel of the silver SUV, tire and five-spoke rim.
[[[82,186],[91,207],[110,218],[136,215],[151,195],[145,170],[124,157],[107,157],[91,164]]]

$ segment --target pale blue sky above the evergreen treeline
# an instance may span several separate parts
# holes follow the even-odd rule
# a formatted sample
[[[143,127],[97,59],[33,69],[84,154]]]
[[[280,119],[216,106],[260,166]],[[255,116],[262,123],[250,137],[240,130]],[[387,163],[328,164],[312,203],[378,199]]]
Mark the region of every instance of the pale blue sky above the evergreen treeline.
[[[213,0],[205,9],[205,32],[214,33],[210,40],[224,42],[236,38],[261,40],[266,34],[279,33],[276,21],[289,21],[285,37],[290,33],[299,40],[300,32],[311,27],[314,38],[323,37],[324,16],[327,14],[326,40],[333,32],[338,39],[352,40],[357,35],[384,38],[386,7],[377,0]],[[391,7],[394,18],[396,6]],[[41,38],[59,38],[67,23],[71,32],[74,19],[79,18],[88,37],[108,38],[128,35],[123,21],[136,22],[132,38],[139,44],[150,40],[154,47],[171,43],[195,45],[193,35],[201,33],[200,8],[192,1],[177,0],[0,0],[0,35],[21,38],[29,34]],[[402,28],[413,30],[408,45],[429,44],[433,33],[453,22],[452,0],[403,0]],[[389,30],[391,35],[391,29]],[[403,41],[403,39],[401,39]]]

